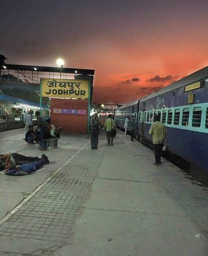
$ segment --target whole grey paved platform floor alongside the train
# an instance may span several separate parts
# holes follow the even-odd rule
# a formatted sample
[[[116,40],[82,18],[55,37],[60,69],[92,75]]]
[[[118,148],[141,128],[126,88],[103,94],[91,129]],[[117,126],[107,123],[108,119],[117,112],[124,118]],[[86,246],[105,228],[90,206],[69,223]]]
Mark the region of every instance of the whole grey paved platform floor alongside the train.
[[[0,154],[39,156],[21,134]],[[0,174],[0,255],[208,255],[208,189],[120,131],[106,144],[65,134],[44,170]]]

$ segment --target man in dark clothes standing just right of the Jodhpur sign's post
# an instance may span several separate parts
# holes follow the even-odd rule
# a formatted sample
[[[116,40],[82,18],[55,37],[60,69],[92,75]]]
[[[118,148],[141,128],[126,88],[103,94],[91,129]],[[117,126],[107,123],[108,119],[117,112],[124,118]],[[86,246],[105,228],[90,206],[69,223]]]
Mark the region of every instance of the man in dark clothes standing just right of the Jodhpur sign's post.
[[[98,114],[95,113],[94,117],[90,120],[91,149],[98,149],[99,129],[101,129],[101,125],[99,123]]]

